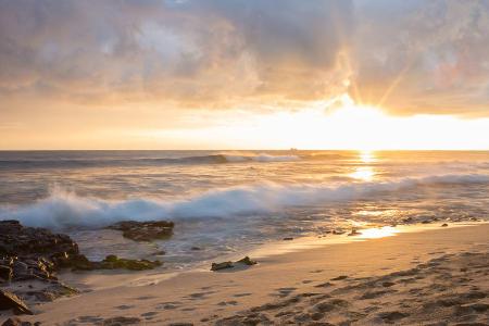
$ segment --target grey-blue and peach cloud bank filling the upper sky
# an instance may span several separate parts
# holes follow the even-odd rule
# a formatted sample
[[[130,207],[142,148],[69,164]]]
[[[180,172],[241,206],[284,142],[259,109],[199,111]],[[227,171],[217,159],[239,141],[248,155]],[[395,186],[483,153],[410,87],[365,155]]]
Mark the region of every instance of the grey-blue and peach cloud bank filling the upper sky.
[[[0,93],[489,115],[489,1],[0,0]]]

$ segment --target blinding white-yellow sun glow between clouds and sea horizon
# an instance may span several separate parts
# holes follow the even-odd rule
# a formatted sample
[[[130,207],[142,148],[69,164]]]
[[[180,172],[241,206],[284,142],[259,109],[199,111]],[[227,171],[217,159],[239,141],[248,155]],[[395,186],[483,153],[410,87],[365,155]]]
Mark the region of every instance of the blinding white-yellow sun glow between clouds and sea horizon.
[[[489,149],[489,118],[450,115],[392,116],[379,108],[315,102],[296,111],[241,111],[202,128],[143,130],[139,136],[173,140],[191,148],[196,139],[211,149],[475,150]],[[456,133],[454,133],[456,130]],[[367,177],[366,172],[359,173]]]

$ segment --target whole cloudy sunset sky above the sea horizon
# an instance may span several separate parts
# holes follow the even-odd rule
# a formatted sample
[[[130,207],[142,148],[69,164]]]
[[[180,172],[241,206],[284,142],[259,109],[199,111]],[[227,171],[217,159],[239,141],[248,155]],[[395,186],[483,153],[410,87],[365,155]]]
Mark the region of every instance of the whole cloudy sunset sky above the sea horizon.
[[[489,149],[489,0],[0,0],[0,149]]]

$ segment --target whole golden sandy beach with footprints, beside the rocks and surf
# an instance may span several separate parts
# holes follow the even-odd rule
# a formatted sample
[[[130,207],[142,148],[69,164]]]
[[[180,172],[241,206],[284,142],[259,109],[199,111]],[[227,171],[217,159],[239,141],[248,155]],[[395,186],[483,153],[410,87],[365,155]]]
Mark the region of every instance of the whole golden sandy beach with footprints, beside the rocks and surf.
[[[221,272],[66,274],[64,280],[82,293],[35,306],[36,314],[22,319],[41,325],[487,325],[489,224],[401,230],[369,239],[284,241],[250,252],[256,265]]]

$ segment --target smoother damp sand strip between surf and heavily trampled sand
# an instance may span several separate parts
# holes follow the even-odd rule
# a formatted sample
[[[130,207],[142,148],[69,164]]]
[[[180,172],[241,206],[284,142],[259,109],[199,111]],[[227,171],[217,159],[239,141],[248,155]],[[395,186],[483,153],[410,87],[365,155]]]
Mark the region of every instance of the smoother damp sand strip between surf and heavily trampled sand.
[[[297,243],[278,244],[297,249],[302,241],[299,251],[289,250],[277,254],[275,250],[275,254],[265,254],[266,251],[262,248],[262,254],[259,253],[260,250],[250,252],[252,259],[259,260],[255,266],[214,273],[196,269],[177,273],[165,279],[159,279],[161,275],[153,275],[155,279],[151,279],[153,273],[148,272],[143,277],[145,285],[127,286],[126,283],[125,286],[111,287],[105,284],[105,288],[91,289],[78,296],[35,306],[39,314],[23,319],[40,321],[47,325],[92,325],[101,318],[123,315],[138,317],[145,324],[187,322],[200,325],[206,323],[201,322],[205,316],[227,317],[271,302],[283,294],[314,289],[317,283],[339,275],[379,276],[450,252],[474,250],[477,246],[487,252],[488,234],[488,223],[456,227],[451,224],[448,228],[442,228],[437,223],[424,225],[416,231],[402,231],[394,237],[365,241],[359,241],[362,240],[360,236],[341,236],[338,238],[347,238],[346,243],[329,246],[325,246],[325,240],[322,239],[316,239],[315,244],[311,239],[308,244],[308,241],[298,238]],[[85,275],[85,281],[89,278],[92,278],[92,285],[97,281],[103,284],[109,279],[91,273]],[[127,278],[137,279],[137,275],[127,274]],[[92,318],[83,322],[77,319],[80,316]],[[213,322],[210,319],[209,323]]]

